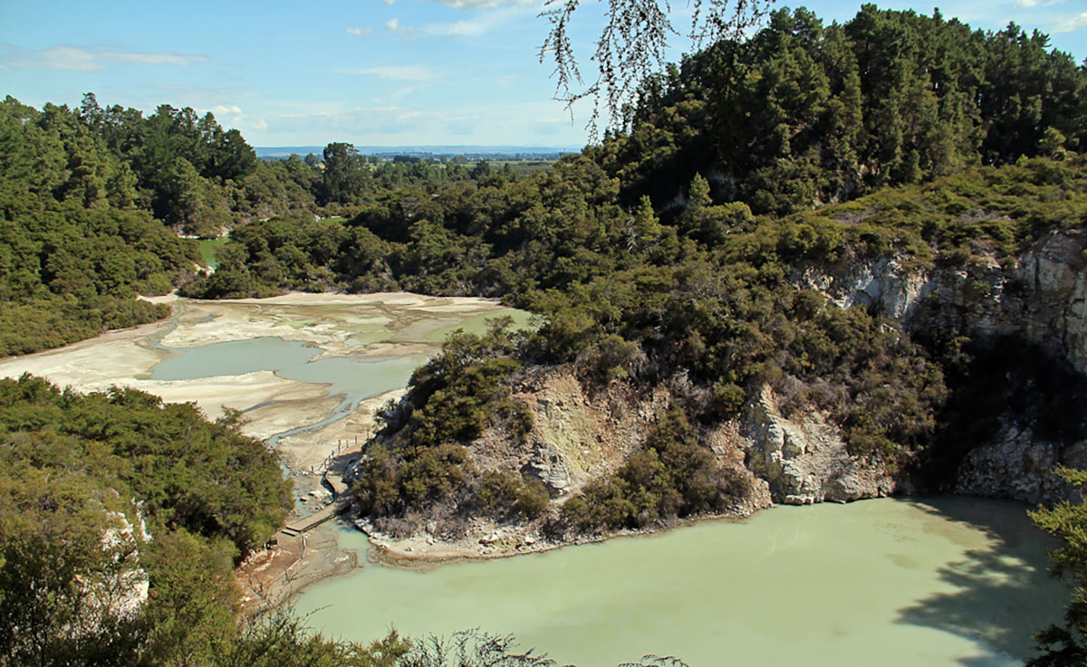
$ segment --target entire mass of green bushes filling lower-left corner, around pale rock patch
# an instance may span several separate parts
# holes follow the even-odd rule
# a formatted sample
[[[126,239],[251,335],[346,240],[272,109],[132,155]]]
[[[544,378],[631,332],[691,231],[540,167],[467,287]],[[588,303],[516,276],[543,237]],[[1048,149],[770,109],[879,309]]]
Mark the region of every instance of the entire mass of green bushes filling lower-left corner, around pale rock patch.
[[[236,419],[23,376],[0,380],[0,665],[204,665],[237,639],[232,570],[288,486]]]

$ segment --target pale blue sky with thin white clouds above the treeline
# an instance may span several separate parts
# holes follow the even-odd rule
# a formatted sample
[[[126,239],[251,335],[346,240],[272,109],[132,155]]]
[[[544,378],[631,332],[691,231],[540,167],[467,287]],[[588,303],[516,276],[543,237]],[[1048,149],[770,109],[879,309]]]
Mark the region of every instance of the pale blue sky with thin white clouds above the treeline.
[[[211,111],[254,146],[580,147],[588,109],[553,101],[537,55],[542,0],[0,0],[0,91],[40,108],[160,103]],[[587,61],[600,4],[574,33]],[[860,7],[804,3],[827,23]],[[930,13],[891,0],[887,9]],[[790,5],[778,2],[777,7]],[[799,5],[799,3],[791,4]],[[999,29],[1014,21],[1087,58],[1087,0],[951,0],[945,16]],[[674,2],[677,26],[688,10]],[[685,42],[674,40],[678,55]]]

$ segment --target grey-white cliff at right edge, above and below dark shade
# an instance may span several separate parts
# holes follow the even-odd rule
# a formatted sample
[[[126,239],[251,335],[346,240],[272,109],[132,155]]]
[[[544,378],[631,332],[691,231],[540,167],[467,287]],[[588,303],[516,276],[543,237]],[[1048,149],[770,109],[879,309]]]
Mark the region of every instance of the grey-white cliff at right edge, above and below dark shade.
[[[807,267],[792,279],[839,306],[875,307],[905,330],[954,327],[983,339],[1022,337],[1087,374],[1085,246],[1083,231],[1059,230],[1003,263],[908,269],[884,259],[829,272]],[[962,461],[955,491],[1030,503],[1065,498],[1071,489],[1050,470],[1057,463],[1087,464],[1084,452],[1087,443],[1044,441],[1029,428],[1003,424]]]

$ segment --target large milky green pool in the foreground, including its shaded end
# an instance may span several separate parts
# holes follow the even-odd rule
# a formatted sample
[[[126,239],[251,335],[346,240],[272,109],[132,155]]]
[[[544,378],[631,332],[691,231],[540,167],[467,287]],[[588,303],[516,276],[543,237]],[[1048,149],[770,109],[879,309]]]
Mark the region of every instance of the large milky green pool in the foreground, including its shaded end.
[[[426,572],[367,566],[308,589],[297,611],[358,641],[478,626],[582,667],[646,653],[691,667],[1019,665],[1064,602],[1024,512],[975,499],[777,507]]]

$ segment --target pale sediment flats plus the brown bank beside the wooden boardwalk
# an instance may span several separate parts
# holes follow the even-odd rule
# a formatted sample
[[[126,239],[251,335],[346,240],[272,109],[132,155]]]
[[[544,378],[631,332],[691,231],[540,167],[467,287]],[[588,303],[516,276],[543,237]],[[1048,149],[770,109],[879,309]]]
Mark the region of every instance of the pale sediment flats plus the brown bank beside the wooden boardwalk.
[[[343,397],[330,391],[330,381],[299,381],[266,369],[228,375],[209,368],[207,377],[182,380],[151,379],[153,369],[193,348],[260,338],[321,348],[323,352],[311,360],[314,362],[428,355],[440,348],[443,332],[478,325],[480,316],[488,313],[509,312],[488,299],[408,292],[146,300],[171,304],[172,317],[55,350],[0,360],[0,377],[29,373],[84,392],[130,387],[166,402],[196,403],[211,419],[222,416],[225,408],[245,411],[242,431],[268,439],[328,420],[343,410]],[[403,377],[397,383],[405,382]],[[359,397],[358,405],[352,402],[353,410],[343,418],[278,440],[276,451],[295,483],[295,499],[305,499],[296,503],[300,513],[320,508],[325,500],[318,470],[329,452],[340,443],[341,457],[357,455],[359,445],[373,432],[375,410],[404,391],[402,386],[390,389]],[[316,473],[311,474],[311,469]],[[339,549],[336,536],[337,529],[326,525],[308,532],[304,541],[284,539],[277,549],[253,554],[238,571],[247,609],[255,611],[261,601],[288,600],[310,583],[353,569],[359,563],[357,552]]]

